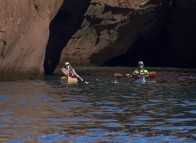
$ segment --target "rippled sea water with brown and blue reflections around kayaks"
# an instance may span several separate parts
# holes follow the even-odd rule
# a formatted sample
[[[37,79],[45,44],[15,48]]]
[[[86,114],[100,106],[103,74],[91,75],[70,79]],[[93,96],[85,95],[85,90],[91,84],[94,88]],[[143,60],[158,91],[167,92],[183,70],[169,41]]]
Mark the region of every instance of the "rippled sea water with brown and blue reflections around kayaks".
[[[46,80],[0,82],[0,142],[196,142],[196,74],[159,71],[148,84],[113,71],[68,85]]]

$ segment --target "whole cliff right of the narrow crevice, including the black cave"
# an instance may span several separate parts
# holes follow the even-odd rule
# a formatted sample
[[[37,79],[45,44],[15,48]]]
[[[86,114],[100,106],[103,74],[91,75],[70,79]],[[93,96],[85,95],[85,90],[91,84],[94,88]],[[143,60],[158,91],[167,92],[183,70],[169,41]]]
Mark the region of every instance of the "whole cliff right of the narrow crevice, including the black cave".
[[[74,65],[196,67],[196,1],[92,0],[61,54]]]

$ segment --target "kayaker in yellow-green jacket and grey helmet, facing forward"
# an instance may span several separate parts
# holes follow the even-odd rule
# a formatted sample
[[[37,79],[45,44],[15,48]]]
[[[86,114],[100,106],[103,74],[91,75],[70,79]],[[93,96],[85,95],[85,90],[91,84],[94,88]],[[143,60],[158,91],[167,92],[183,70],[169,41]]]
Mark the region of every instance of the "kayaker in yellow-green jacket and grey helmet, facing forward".
[[[149,76],[149,72],[144,69],[143,61],[138,62],[138,68],[133,71],[133,74],[126,74],[127,77],[141,78],[142,76]]]

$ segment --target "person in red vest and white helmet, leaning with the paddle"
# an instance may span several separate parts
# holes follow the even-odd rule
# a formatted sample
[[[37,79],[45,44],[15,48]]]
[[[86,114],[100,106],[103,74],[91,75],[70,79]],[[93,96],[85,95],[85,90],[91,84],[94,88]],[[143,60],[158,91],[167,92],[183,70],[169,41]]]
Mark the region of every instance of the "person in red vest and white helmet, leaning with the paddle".
[[[69,62],[65,62],[65,67],[63,67],[63,68],[61,69],[61,71],[62,71],[65,75],[67,75],[67,76],[70,76],[70,77],[72,77],[72,78],[77,77],[77,78],[79,78],[81,81],[84,81],[84,80],[76,73],[76,71],[75,71],[74,68],[70,65]]]

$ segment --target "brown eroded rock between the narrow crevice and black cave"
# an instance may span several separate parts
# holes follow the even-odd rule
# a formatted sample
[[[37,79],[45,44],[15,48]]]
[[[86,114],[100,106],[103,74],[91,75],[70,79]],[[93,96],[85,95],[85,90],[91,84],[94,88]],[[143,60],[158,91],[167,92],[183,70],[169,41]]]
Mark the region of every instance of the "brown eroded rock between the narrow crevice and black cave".
[[[160,11],[169,1],[93,0],[81,28],[61,54],[75,65],[104,65],[123,55],[139,37],[148,37],[157,28]]]

